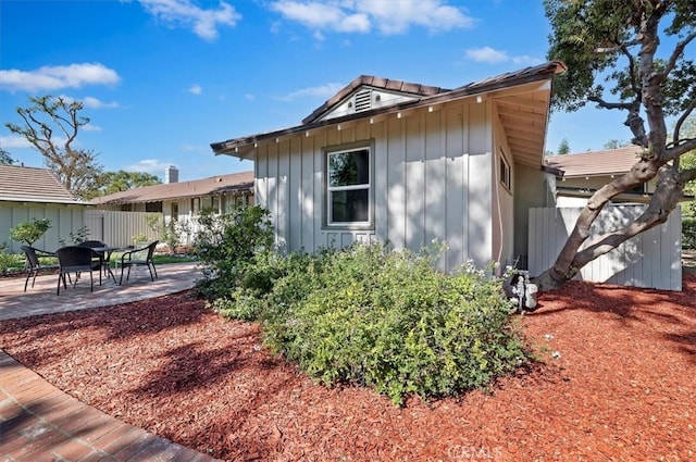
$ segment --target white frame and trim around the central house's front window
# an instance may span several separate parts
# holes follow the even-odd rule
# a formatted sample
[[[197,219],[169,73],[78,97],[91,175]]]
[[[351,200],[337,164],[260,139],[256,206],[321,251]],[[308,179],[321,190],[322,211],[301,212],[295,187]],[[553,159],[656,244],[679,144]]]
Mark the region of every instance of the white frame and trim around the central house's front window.
[[[368,151],[368,184],[366,185],[348,185],[348,186],[330,186],[330,155],[343,152]],[[325,147],[322,150],[322,229],[336,230],[373,230],[374,229],[374,140],[356,141],[344,145]],[[340,222],[333,223],[331,221],[332,202],[331,193],[334,191],[350,191],[368,189],[368,221],[364,222]]]

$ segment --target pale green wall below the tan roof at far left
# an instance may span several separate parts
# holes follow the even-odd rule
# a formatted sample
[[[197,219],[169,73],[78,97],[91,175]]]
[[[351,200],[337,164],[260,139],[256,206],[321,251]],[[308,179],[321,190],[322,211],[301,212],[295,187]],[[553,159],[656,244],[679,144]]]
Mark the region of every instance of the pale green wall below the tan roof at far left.
[[[85,225],[85,210],[82,205],[0,202],[0,244],[5,242],[10,253],[21,252],[22,242],[10,239],[10,228],[33,218],[48,218],[51,227],[34,247],[52,252],[61,247],[61,240],[71,242],[70,234]]]

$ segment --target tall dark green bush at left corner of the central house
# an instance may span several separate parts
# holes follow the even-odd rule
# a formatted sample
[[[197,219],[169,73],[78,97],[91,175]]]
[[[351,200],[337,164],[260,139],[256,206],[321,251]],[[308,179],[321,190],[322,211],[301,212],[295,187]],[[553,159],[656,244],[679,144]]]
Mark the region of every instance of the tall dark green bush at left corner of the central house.
[[[227,214],[203,210],[195,237],[196,257],[204,277],[197,285],[206,298],[226,298],[244,287],[257,254],[273,245],[270,212],[258,205],[239,205]]]

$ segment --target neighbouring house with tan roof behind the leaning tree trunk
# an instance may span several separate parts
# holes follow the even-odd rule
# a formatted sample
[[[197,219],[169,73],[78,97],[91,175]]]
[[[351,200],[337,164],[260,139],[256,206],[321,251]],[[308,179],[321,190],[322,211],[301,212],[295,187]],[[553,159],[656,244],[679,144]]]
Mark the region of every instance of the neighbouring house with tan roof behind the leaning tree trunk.
[[[587,199],[604,185],[620,177],[637,162],[641,147],[626,146],[602,151],[550,155],[544,170],[550,173],[549,188],[557,207],[585,207]],[[657,179],[616,197],[612,202],[648,202]]]

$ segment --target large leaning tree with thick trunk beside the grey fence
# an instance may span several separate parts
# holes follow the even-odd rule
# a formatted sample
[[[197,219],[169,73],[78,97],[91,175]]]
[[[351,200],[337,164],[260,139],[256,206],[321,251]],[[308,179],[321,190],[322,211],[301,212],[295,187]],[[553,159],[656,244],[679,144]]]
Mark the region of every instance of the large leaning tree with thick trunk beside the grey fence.
[[[592,102],[625,112],[637,152],[627,174],[588,199],[554,265],[535,278],[540,290],[550,290],[599,255],[664,223],[684,185],[696,178],[696,168],[680,166],[681,157],[696,148],[696,138],[682,133],[696,107],[696,66],[685,53],[696,38],[696,8],[693,0],[545,0],[544,5],[552,29],[548,57],[568,65],[555,82],[552,109],[574,111]],[[676,120],[671,139],[669,116]],[[580,250],[612,198],[656,176],[656,190],[641,216]]]

